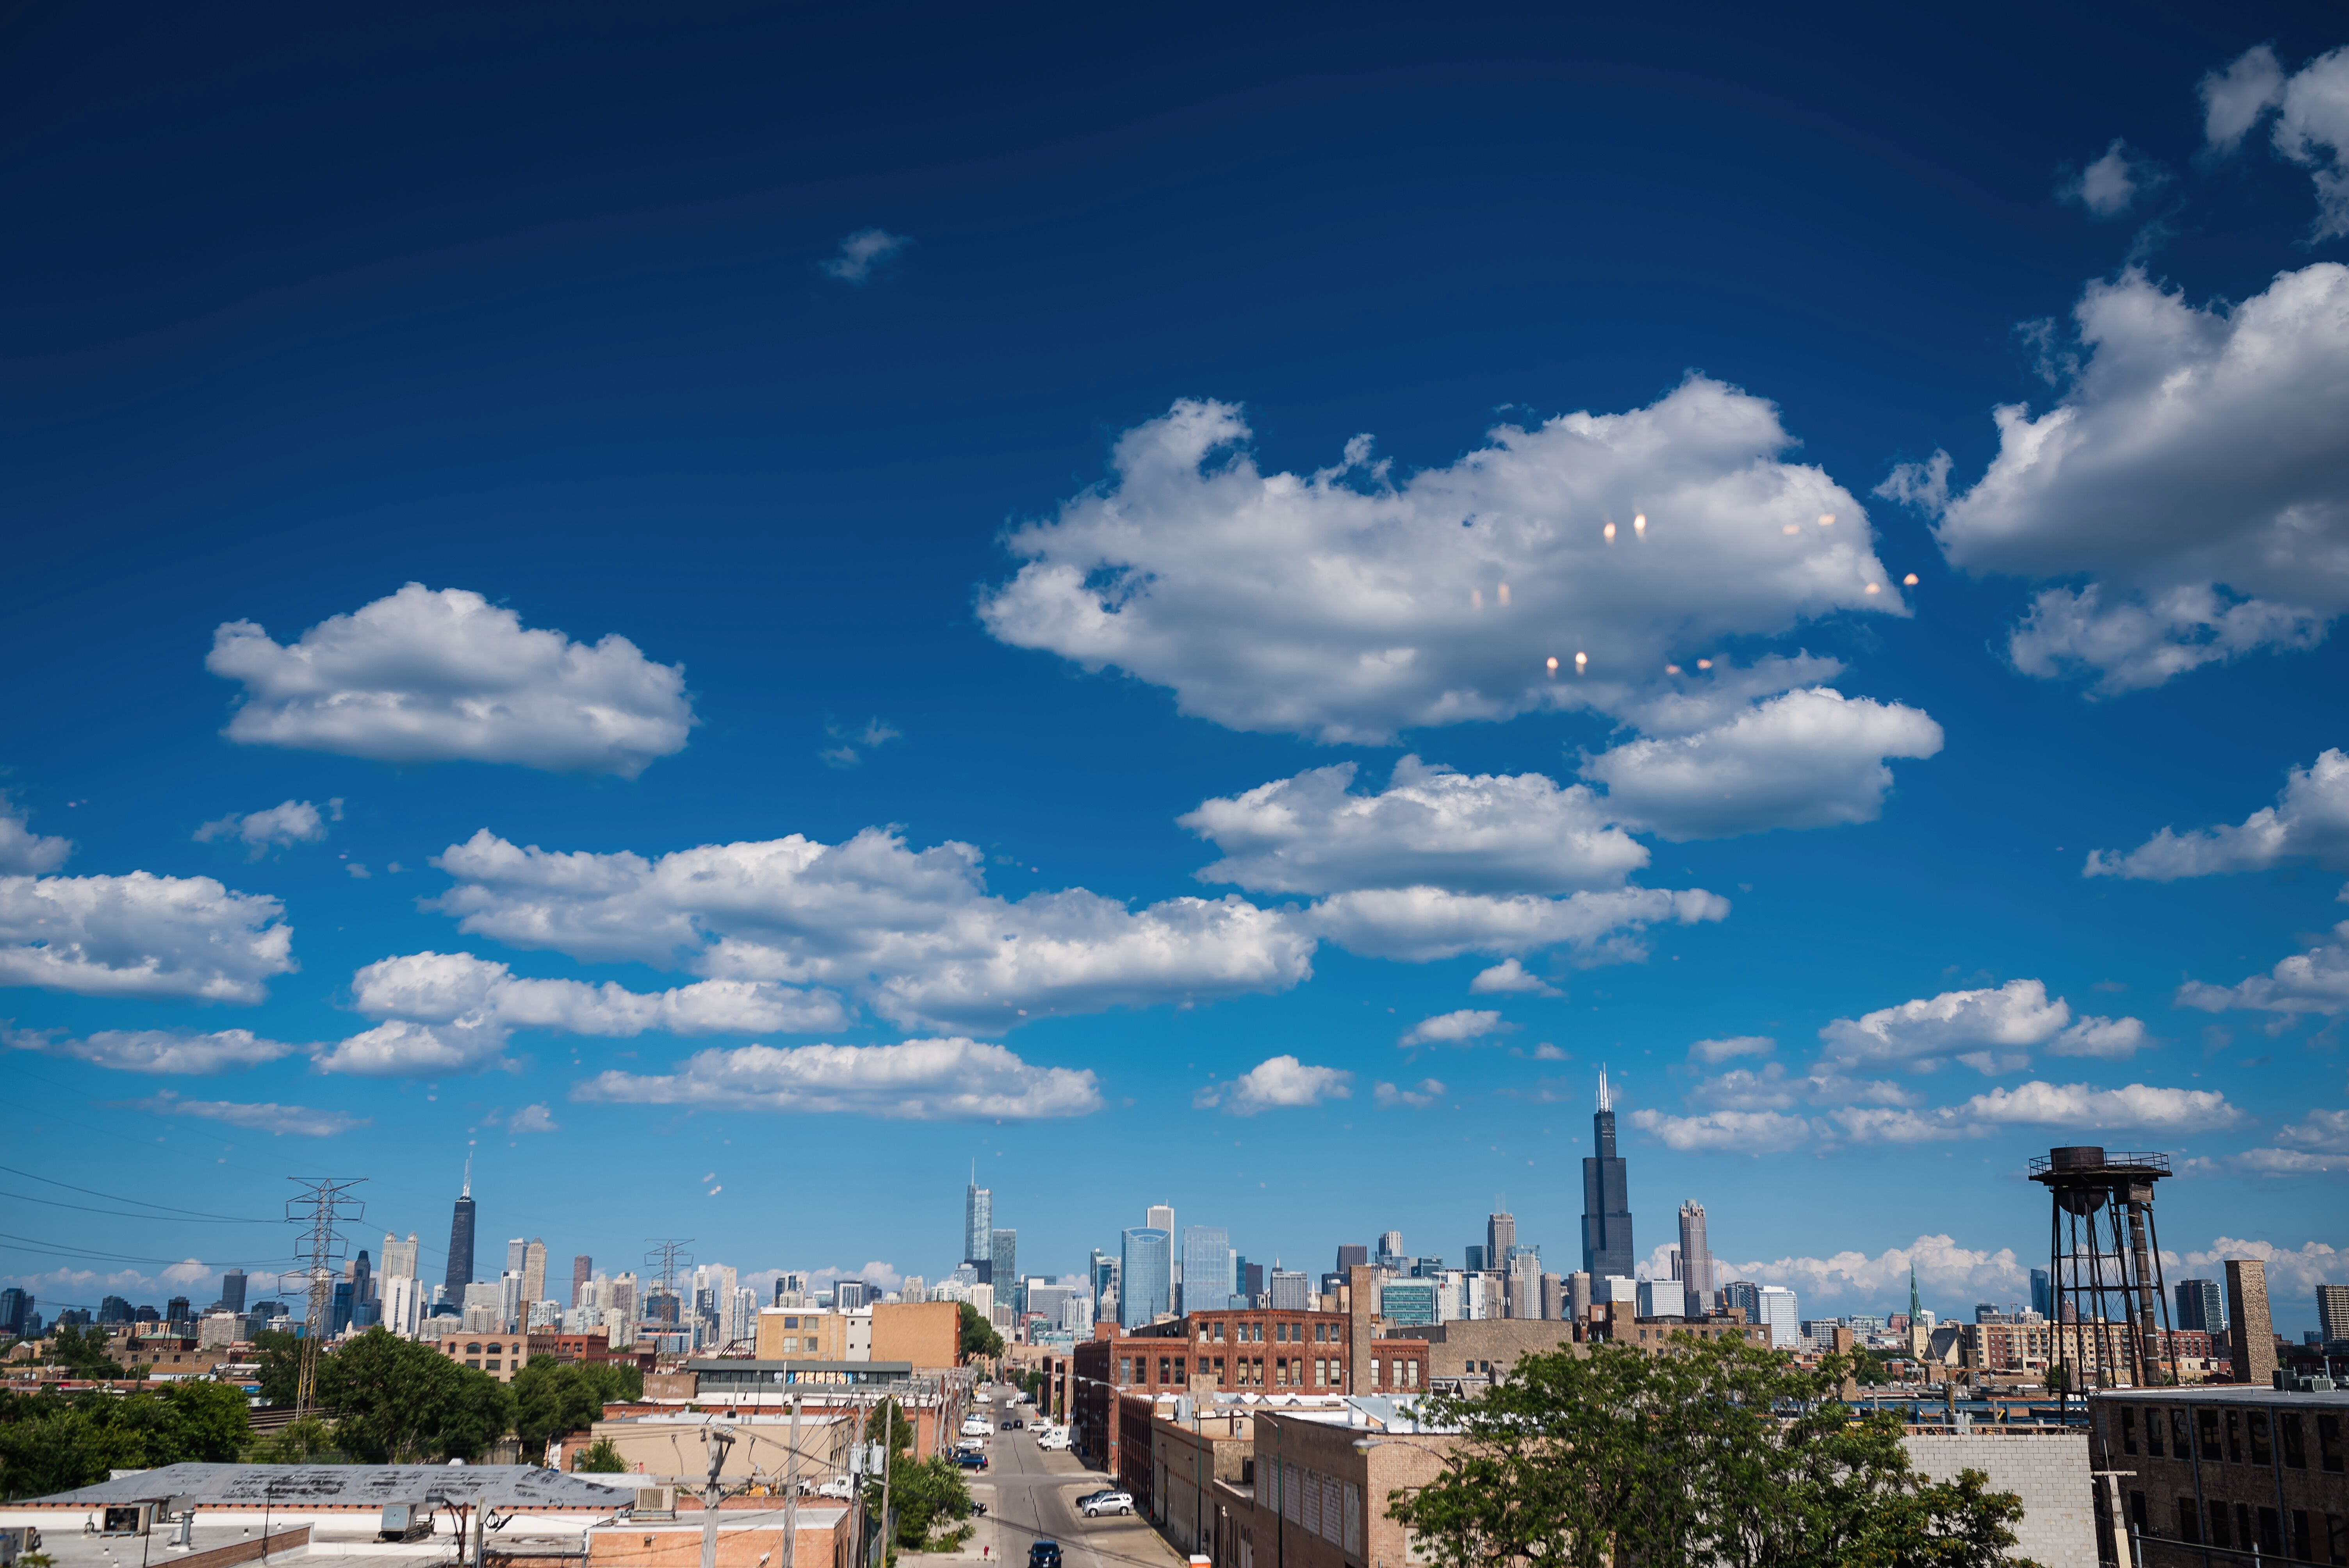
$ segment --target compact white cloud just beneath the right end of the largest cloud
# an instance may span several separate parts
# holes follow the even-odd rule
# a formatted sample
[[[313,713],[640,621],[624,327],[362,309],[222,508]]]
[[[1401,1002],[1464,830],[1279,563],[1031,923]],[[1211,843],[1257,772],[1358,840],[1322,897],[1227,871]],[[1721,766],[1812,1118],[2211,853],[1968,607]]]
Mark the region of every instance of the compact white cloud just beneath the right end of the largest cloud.
[[[1886,758],[1940,751],[1940,725],[1898,702],[1811,688],[1771,697],[1694,735],[1602,751],[1583,777],[1607,810],[1661,838],[1875,822],[1893,784]]]

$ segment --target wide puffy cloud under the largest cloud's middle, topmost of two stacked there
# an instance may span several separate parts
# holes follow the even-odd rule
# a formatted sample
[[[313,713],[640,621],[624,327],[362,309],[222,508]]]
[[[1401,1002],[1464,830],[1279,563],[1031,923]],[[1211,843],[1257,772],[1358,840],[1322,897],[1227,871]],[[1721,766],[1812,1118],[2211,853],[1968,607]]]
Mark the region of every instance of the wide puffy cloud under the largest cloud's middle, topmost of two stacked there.
[[[1433,885],[1454,892],[1616,887],[1647,850],[1581,784],[1539,772],[1463,775],[1416,756],[1384,791],[1351,789],[1353,763],[1313,768],[1179,817],[1224,859],[1198,873],[1261,892]]]

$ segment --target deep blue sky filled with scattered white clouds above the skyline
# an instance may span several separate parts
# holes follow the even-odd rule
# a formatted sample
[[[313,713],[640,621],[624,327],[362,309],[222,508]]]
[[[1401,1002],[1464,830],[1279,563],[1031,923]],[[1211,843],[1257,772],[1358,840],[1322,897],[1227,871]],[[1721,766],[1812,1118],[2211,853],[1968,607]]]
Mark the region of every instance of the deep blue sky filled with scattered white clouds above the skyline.
[[[2100,1141],[2314,1324],[2349,40],[2011,21],[26,23],[12,1190],[1571,1268],[1607,1063],[1642,1253],[2011,1300]]]

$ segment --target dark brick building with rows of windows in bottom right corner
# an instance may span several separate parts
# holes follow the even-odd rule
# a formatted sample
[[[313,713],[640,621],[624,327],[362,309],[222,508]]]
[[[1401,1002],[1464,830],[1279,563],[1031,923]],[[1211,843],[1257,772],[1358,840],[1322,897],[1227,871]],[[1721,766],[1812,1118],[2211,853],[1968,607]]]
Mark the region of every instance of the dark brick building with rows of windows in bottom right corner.
[[[2095,1467],[2131,1472],[2121,1521],[2145,1568],[2253,1552],[2349,1563],[2349,1392],[2126,1390],[2091,1397],[2088,1425]],[[2098,1514],[2105,1556],[2119,1561],[2102,1498]]]

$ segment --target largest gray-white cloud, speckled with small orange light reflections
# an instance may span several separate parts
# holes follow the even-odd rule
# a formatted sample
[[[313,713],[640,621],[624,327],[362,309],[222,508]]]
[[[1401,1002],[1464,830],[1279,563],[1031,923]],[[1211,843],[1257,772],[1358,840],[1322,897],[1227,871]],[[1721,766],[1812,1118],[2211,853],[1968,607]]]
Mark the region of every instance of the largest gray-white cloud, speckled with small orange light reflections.
[[[1247,437],[1217,401],[1128,430],[1106,484],[1008,538],[1024,563],[980,601],[987,629],[1236,730],[1384,744],[1628,716],[1722,638],[1907,613],[1851,493],[1783,460],[1769,401],[1703,376],[1630,413],[1501,425],[1402,481],[1367,437],[1313,474],[1261,472]],[[1832,671],[1804,662],[1785,685]]]

